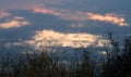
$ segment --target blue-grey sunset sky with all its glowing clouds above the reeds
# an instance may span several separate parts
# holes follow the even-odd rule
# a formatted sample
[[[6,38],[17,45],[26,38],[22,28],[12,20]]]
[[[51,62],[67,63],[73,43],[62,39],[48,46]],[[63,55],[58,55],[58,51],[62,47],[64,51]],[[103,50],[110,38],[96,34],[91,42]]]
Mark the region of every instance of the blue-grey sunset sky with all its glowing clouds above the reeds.
[[[0,46],[104,47],[131,36],[131,0],[0,0]]]

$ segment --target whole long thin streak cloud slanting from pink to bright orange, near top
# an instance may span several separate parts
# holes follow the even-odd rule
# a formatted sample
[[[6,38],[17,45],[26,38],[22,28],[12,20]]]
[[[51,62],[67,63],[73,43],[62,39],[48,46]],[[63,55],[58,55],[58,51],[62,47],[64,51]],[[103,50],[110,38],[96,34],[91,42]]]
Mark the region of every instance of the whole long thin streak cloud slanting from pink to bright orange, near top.
[[[129,26],[130,24],[127,23],[126,18],[119,14],[107,13],[105,15],[91,13],[91,12],[83,12],[83,11],[71,11],[71,10],[58,10],[58,9],[48,9],[48,8],[35,8],[33,10],[34,13],[43,13],[43,14],[50,14],[55,16],[59,16],[63,20],[72,20],[72,21],[97,21],[97,22],[105,22],[111,23],[119,26]]]

